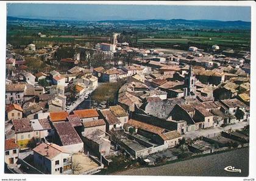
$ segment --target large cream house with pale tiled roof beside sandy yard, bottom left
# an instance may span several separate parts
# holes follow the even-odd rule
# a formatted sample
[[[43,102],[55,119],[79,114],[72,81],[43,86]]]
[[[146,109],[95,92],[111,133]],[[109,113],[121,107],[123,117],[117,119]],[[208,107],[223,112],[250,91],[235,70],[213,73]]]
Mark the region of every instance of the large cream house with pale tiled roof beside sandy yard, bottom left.
[[[33,149],[35,167],[45,174],[62,174],[70,170],[72,155],[54,143],[41,143]]]

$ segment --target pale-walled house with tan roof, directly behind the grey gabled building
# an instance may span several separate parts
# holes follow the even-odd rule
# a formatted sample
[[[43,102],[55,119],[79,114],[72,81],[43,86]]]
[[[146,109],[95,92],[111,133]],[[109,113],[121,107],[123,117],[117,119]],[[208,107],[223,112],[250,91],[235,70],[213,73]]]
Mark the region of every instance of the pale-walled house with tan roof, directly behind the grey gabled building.
[[[106,131],[106,124],[104,119],[97,119],[94,121],[85,121],[83,122],[85,135],[89,135],[96,129]]]

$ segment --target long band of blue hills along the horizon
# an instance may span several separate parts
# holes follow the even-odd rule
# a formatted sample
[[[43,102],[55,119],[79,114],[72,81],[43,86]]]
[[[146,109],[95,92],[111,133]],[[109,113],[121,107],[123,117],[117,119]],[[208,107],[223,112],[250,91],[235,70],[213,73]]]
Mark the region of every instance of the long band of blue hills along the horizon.
[[[43,20],[33,18],[17,18],[7,16],[7,21],[73,21],[76,20]],[[79,20],[80,21],[80,20]],[[168,26],[180,26],[180,27],[198,27],[208,29],[251,29],[251,22],[248,21],[218,21],[218,20],[104,20],[95,21],[97,23],[113,23],[113,24],[162,24]]]

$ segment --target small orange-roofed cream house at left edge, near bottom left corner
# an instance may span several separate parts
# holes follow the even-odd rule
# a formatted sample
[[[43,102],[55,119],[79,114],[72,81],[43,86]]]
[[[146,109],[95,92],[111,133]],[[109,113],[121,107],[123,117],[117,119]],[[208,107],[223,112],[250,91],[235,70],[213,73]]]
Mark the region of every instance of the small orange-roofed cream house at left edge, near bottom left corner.
[[[4,141],[4,161],[7,165],[15,164],[19,158],[19,146],[15,143],[15,139]]]

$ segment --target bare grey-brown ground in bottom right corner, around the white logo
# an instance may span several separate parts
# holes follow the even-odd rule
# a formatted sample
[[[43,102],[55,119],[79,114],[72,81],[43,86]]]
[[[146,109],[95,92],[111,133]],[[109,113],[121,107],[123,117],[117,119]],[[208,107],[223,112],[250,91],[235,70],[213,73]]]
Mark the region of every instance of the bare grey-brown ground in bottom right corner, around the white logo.
[[[227,166],[241,169],[239,172],[227,172]],[[246,177],[249,173],[249,147],[224,152],[193,160],[179,161],[168,165],[152,168],[129,169],[115,172],[114,175],[130,176],[234,176]]]

